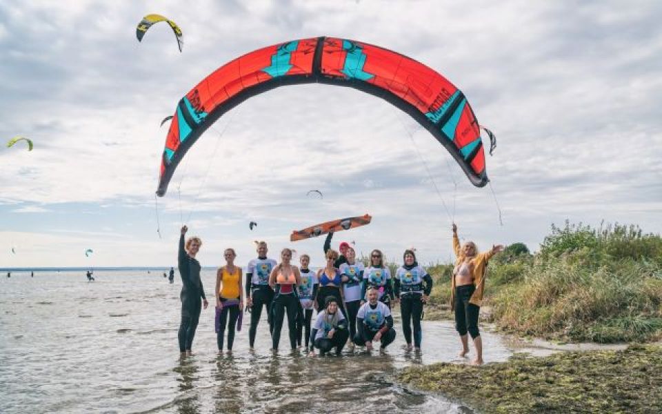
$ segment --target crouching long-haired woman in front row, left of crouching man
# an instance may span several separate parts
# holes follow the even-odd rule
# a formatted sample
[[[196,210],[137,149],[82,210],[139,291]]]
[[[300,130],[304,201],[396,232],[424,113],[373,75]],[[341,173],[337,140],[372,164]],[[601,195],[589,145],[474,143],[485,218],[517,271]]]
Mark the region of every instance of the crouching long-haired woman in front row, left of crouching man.
[[[325,304],[324,310],[317,314],[310,334],[309,355],[313,357],[315,348],[319,349],[320,356],[324,356],[333,348],[336,348],[336,355],[340,355],[350,335],[347,331],[347,319],[338,308],[337,299],[329,296]]]

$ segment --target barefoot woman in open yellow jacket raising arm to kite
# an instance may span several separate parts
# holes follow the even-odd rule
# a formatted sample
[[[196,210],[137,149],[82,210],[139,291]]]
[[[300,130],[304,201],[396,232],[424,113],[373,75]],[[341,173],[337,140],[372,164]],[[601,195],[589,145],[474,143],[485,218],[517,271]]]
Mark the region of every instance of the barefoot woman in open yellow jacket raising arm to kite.
[[[453,224],[453,251],[457,260],[450,278],[450,308],[455,312],[455,328],[462,341],[459,356],[465,357],[469,353],[468,332],[476,348],[476,358],[472,361],[474,365],[483,364],[483,342],[478,331],[478,314],[485,289],[485,268],[490,257],[501,250],[503,246],[500,244],[492,246],[492,250],[485,253],[478,253],[474,242],[466,242],[460,246],[457,226]]]

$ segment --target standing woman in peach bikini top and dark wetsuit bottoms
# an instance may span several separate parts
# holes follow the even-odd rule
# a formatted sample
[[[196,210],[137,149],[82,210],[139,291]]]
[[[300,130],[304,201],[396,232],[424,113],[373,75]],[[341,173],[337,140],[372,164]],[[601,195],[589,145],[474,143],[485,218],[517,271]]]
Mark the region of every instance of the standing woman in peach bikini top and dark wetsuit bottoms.
[[[292,266],[292,250],[283,248],[281,252],[281,263],[271,272],[269,286],[275,292],[272,304],[274,331],[271,333],[272,351],[278,351],[281,340],[281,329],[285,311],[288,313],[288,330],[290,331],[290,347],[297,349],[297,315],[299,313],[299,298],[297,297],[297,286],[301,284],[301,273],[297,266]]]

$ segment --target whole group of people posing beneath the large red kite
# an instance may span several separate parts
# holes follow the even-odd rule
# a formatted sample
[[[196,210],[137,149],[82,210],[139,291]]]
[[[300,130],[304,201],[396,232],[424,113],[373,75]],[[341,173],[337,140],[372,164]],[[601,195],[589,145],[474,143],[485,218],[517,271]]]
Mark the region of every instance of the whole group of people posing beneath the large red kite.
[[[178,257],[183,282],[178,337],[183,354],[190,353],[201,308],[208,306],[200,279],[201,266],[195,259],[202,242],[199,237],[185,241],[187,231],[186,226],[181,228]],[[332,351],[341,355],[345,345],[352,351],[356,346],[365,346],[371,351],[373,344],[379,343],[379,351],[384,353],[396,337],[392,304],[400,304],[406,350],[421,351],[421,317],[432,290],[432,277],[417,263],[414,250],[405,250],[403,264],[391,275],[380,250],[372,250],[370,265],[366,267],[357,262],[350,244],[341,243],[340,253],[332,250],[332,236],[333,233],[329,233],[324,244],[325,267],[317,272],[308,268],[308,255],[301,255],[298,267],[292,264],[292,250],[283,248],[280,262],[277,262],[267,257],[265,242],[256,242],[258,257],[249,262],[244,276],[242,269],[234,264],[237,257],[234,249],[225,249],[225,265],[217,271],[214,290],[219,351],[224,347],[232,351],[234,333],[241,329],[246,306],[250,312],[248,342],[251,350],[264,309],[273,351],[279,348],[286,315],[292,350],[303,345],[309,355],[314,356],[316,349],[320,355]],[[461,246],[457,226],[453,224],[453,248],[457,262],[451,278],[451,302],[461,338],[460,356],[465,357],[469,352],[469,334],[477,354],[473,363],[482,364],[478,314],[485,286],[485,266],[503,246],[493,246],[485,253],[478,253],[472,242]],[[317,311],[314,324],[313,311]]]

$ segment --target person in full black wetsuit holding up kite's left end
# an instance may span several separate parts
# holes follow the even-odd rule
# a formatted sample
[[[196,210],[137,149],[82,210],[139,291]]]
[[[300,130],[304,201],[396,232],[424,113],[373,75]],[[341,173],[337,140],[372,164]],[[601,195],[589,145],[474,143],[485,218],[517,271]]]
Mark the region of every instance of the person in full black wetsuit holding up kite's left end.
[[[179,323],[177,338],[179,339],[179,352],[182,355],[190,355],[191,353],[193,337],[195,336],[195,329],[198,326],[201,311],[200,298],[202,298],[204,308],[206,309],[208,306],[205,290],[200,279],[200,262],[195,258],[202,241],[199,237],[189,237],[184,244],[184,235],[187,231],[187,226],[181,227],[177,257],[182,282],[181,293],[179,294],[181,299],[181,322]]]

